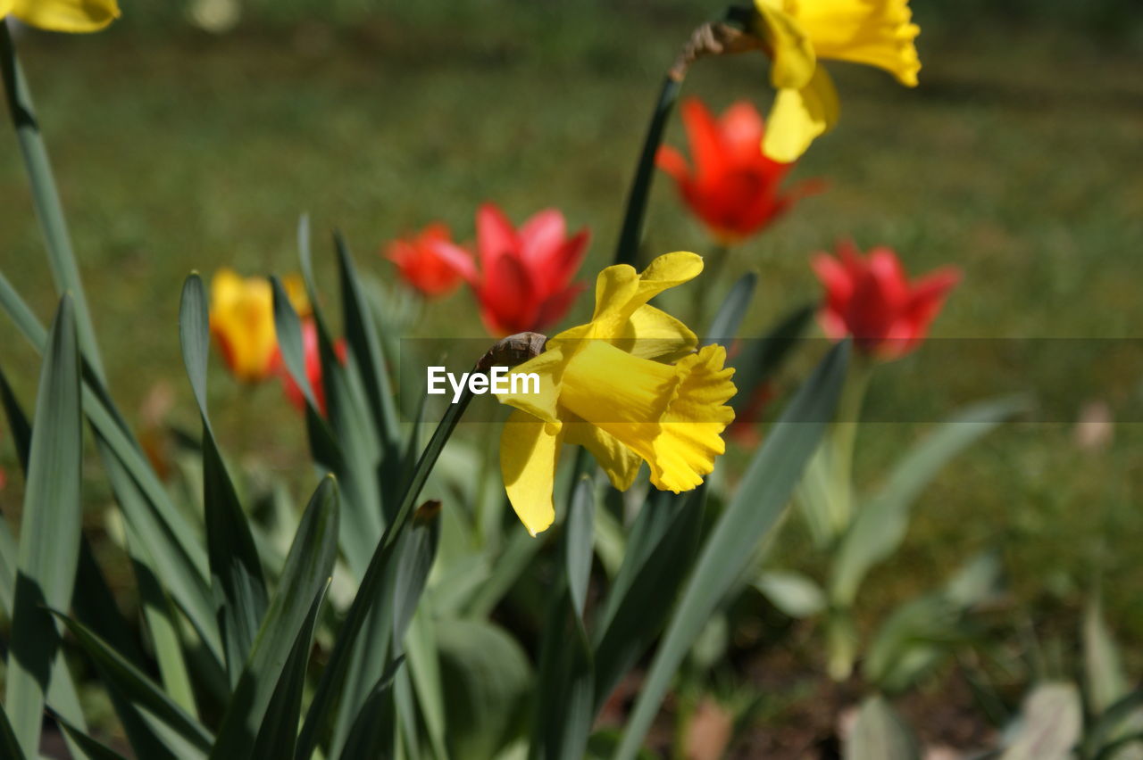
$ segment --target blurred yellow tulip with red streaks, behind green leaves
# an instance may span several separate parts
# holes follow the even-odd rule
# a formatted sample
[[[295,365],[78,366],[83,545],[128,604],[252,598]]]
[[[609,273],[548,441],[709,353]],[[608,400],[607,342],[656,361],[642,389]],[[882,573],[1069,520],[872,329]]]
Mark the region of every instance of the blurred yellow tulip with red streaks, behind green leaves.
[[[286,277],[282,285],[298,314],[307,316],[310,304],[301,280]],[[235,378],[243,382],[265,380],[278,363],[270,281],[242,277],[225,267],[216,272],[210,280],[210,332]]]

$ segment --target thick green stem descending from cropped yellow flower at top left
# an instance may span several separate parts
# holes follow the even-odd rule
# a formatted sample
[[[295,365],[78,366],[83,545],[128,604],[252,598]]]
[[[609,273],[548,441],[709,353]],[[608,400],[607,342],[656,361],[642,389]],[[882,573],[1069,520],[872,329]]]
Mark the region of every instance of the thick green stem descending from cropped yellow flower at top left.
[[[106,385],[103,361],[95,340],[95,328],[91,313],[83,294],[75,253],[72,251],[71,236],[67,234],[67,221],[64,219],[59,192],[56,189],[51,175],[51,163],[40,135],[40,127],[32,107],[32,96],[27,81],[16,57],[8,25],[0,18],[0,78],[3,79],[6,102],[11,123],[16,128],[19,149],[24,156],[24,169],[32,184],[32,201],[35,216],[40,220],[40,229],[48,248],[48,261],[56,283],[56,291],[63,294],[70,291],[75,306],[75,324],[79,330],[79,343],[83,358],[90,365],[96,378]]]

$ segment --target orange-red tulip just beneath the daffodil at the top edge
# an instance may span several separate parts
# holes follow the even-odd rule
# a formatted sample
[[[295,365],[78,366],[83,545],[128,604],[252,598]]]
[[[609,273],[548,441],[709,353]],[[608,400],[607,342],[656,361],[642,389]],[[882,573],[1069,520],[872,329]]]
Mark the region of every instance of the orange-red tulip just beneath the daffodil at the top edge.
[[[749,237],[822,187],[808,181],[778,193],[793,164],[762,155],[762,118],[750,103],[734,104],[716,121],[702,102],[689,98],[682,104],[682,123],[694,171],[669,146],[658,149],[655,162],[674,178],[684,202],[722,244]]]

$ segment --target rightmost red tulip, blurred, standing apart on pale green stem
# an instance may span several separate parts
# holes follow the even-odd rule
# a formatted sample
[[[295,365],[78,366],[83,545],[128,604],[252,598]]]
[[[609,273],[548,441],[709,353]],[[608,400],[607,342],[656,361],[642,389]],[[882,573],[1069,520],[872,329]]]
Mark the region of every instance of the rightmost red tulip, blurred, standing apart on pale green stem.
[[[910,283],[897,254],[885,246],[865,257],[852,242],[837,249],[838,258],[818,253],[813,260],[825,286],[822,329],[834,340],[853,335],[861,351],[881,358],[917,348],[960,282],[959,270],[944,267]]]

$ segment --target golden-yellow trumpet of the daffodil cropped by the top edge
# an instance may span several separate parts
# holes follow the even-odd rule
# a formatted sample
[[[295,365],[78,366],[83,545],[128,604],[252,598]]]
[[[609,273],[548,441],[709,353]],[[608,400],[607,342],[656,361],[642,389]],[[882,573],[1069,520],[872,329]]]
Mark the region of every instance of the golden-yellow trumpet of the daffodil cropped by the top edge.
[[[791,0],[788,0],[788,2]],[[917,86],[921,64],[909,0],[793,0],[798,24],[818,58],[877,66],[902,84]]]

